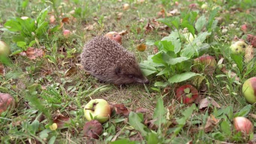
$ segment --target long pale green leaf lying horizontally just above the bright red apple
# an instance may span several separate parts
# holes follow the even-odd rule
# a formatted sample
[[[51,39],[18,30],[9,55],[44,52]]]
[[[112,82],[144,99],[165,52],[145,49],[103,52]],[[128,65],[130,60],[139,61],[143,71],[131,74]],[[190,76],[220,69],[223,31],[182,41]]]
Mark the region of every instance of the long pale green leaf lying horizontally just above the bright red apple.
[[[191,77],[194,77],[196,75],[199,75],[199,74],[196,74],[196,73],[193,73],[193,72],[185,72],[185,73],[182,73],[182,74],[175,74],[174,76],[170,77],[168,79],[168,81],[170,83],[179,83],[179,82],[183,82],[185,80],[188,80],[190,79]]]

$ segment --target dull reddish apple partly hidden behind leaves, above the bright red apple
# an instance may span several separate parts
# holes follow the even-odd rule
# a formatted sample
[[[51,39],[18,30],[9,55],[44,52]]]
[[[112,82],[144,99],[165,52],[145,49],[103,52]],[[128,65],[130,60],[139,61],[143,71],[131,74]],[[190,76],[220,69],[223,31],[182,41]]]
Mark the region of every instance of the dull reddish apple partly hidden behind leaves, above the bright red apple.
[[[202,66],[204,67],[204,73],[207,75],[213,74],[217,65],[215,58],[210,55],[202,55],[194,59],[194,63],[202,64]]]

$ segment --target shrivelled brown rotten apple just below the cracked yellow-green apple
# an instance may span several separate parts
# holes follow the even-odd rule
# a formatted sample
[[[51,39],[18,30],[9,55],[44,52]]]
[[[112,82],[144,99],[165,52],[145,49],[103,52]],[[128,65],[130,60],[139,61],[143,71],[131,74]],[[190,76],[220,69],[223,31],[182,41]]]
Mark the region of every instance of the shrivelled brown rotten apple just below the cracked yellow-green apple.
[[[98,120],[91,120],[83,126],[83,135],[87,138],[98,139],[102,131],[102,125]]]

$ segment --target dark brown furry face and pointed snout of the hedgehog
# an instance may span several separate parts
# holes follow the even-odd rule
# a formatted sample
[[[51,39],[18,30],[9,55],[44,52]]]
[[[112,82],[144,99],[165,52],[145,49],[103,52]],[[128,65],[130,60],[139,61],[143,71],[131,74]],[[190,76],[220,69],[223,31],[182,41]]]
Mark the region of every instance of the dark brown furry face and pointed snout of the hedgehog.
[[[138,83],[138,84],[148,84],[149,80],[143,76],[139,68],[130,68],[128,70],[120,67],[115,68],[115,74],[118,80],[115,82],[117,85],[128,84],[128,83]]]

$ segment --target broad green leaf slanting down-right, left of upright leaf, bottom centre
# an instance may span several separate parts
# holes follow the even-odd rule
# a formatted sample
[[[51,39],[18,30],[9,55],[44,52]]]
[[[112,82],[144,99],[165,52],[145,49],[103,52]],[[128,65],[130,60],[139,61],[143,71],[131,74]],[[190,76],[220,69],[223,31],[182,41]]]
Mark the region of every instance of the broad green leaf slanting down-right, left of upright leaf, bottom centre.
[[[131,111],[129,113],[129,124],[136,129],[137,131],[139,131],[141,133],[141,135],[144,137],[147,135],[147,132],[145,131],[145,129],[147,129],[147,127],[145,125],[143,125],[141,118],[134,113],[133,111]]]

